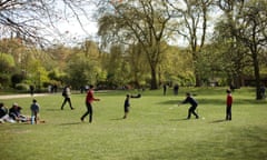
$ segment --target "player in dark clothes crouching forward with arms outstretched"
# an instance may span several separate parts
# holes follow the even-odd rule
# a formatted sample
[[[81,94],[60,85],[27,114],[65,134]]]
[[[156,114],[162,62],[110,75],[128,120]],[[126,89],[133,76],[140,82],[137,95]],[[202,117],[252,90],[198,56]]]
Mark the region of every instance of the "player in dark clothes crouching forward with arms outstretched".
[[[195,112],[195,110],[198,107],[198,102],[190,96],[189,92],[186,93],[186,99],[182,102],[178,103],[178,106],[184,104],[184,103],[190,103],[191,104],[191,107],[188,109],[187,119],[191,118],[191,113],[196,117],[196,119],[198,119],[199,116]]]

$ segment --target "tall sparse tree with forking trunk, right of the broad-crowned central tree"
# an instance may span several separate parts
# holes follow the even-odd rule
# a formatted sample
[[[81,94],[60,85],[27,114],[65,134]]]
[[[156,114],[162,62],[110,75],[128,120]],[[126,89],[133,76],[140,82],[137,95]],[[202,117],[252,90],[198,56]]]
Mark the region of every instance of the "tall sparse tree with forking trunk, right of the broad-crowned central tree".
[[[178,34],[186,38],[192,54],[196,87],[201,86],[200,71],[197,68],[198,57],[206,41],[208,12],[214,0],[167,0],[177,18]]]

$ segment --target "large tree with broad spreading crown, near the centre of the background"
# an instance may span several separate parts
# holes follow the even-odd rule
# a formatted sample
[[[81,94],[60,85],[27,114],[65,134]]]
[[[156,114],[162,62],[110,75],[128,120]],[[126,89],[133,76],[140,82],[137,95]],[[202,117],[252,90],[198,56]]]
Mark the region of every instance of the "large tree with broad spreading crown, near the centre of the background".
[[[129,0],[109,3],[115,12],[105,12],[99,19],[98,34],[103,43],[108,41],[131,44],[140,43],[150,67],[150,89],[158,88],[157,70],[161,59],[162,40],[168,34],[170,20],[167,3],[161,0]]]

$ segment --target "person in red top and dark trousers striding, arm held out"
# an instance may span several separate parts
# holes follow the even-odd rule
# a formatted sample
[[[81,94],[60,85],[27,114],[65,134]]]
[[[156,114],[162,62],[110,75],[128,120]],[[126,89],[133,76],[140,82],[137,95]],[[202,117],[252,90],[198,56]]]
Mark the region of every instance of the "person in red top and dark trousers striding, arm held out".
[[[85,120],[85,118],[89,114],[89,123],[92,121],[92,102],[93,101],[100,101],[100,99],[97,99],[93,97],[93,86],[90,86],[90,89],[87,92],[86,97],[86,106],[87,106],[87,112],[80,118],[81,121]]]

